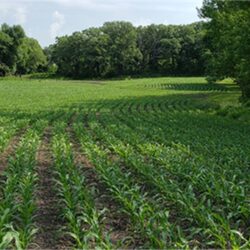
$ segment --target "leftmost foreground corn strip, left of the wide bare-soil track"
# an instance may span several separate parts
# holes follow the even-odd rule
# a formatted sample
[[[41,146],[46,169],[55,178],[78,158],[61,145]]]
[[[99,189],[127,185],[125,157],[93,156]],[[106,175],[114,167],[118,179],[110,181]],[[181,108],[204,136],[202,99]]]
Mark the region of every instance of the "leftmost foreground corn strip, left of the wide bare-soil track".
[[[46,122],[38,121],[21,139],[9,159],[0,193],[0,248],[29,246],[37,228],[34,223],[37,188],[36,151]]]

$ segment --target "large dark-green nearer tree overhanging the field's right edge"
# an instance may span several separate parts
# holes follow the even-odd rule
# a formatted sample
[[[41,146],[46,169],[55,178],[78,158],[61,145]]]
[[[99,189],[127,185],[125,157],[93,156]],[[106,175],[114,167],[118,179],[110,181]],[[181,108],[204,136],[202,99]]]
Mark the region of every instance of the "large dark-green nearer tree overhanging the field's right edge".
[[[234,78],[250,98],[250,2],[205,0],[206,72],[211,80]]]

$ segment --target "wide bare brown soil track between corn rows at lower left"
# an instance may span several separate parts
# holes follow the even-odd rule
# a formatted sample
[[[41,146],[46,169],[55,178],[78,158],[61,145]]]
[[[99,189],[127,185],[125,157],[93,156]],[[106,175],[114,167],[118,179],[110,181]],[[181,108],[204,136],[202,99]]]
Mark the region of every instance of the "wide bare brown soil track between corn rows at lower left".
[[[69,247],[67,239],[59,237],[59,231],[64,223],[59,217],[58,198],[53,180],[53,159],[50,151],[52,140],[51,128],[45,129],[40,148],[37,152],[37,214],[36,222],[39,231],[34,240],[35,249],[66,249]]]

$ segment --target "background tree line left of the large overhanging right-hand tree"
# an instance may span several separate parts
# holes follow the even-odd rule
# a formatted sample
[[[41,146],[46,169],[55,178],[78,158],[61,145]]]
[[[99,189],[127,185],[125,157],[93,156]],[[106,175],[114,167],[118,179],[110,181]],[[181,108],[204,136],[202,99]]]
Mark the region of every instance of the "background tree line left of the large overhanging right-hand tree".
[[[202,75],[202,23],[134,27],[107,22],[58,37],[42,50],[20,25],[0,28],[0,74],[55,71],[72,77]],[[56,66],[55,66],[56,65]]]

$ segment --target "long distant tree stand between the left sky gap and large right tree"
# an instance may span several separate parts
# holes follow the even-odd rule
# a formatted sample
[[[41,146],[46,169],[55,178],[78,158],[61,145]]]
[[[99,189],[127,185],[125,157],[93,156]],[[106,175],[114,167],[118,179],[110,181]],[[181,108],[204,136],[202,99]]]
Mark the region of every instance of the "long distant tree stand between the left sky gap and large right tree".
[[[57,38],[46,49],[58,73],[68,77],[202,75],[203,24],[134,27],[107,22]]]

